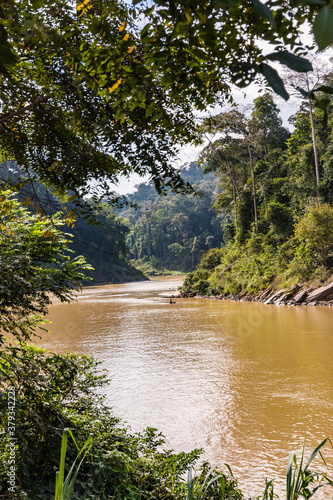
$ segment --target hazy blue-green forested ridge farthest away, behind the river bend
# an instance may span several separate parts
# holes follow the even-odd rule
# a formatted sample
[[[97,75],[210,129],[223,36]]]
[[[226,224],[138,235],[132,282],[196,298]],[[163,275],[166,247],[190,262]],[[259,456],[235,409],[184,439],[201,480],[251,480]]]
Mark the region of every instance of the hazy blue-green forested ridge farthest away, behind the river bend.
[[[183,166],[181,175],[201,195],[161,197],[152,183],[142,183],[128,195],[137,210],[119,213],[130,228],[129,257],[150,274],[193,270],[205,251],[223,244],[225,212],[212,208],[220,193],[218,179],[203,175],[196,163]]]

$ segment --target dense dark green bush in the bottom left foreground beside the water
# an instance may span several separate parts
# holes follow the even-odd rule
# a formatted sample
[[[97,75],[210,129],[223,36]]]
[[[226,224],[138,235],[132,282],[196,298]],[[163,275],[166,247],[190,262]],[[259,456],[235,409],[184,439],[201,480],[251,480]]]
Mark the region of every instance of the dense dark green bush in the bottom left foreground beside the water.
[[[148,428],[132,434],[115,418],[96,391],[107,383],[88,356],[50,354],[22,344],[0,353],[0,498],[53,500],[62,432],[70,427],[81,447],[90,433],[93,446],[75,483],[73,499],[165,499],[186,496],[183,477],[201,450],[173,453],[163,436]],[[15,388],[15,493],[8,490],[10,436],[8,388]],[[11,392],[12,393],[12,392]],[[67,467],[77,455],[68,442]],[[203,484],[208,464],[199,470],[196,488]],[[228,499],[242,495],[233,478],[226,481]],[[207,499],[217,499],[218,488]]]

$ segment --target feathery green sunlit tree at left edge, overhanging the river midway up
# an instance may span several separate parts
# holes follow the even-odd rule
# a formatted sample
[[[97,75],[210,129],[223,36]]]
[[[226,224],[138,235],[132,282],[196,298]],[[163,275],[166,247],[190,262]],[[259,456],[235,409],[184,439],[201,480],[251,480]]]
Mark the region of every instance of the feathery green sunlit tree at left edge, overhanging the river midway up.
[[[0,193],[1,337],[30,338],[51,304],[50,294],[69,302],[80,289],[91,266],[81,256],[70,258],[64,224],[61,213],[31,215],[11,193]]]

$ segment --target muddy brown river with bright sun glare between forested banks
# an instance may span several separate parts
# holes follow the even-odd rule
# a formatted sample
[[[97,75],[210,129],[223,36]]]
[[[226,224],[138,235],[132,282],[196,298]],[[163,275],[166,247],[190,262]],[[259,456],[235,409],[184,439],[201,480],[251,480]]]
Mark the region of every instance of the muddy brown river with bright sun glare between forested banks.
[[[175,451],[204,448],[248,495],[265,477],[281,493],[304,437],[309,450],[333,438],[333,310],[160,297],[180,284],[85,288],[75,303],[55,301],[38,343],[102,360],[108,402],[133,431],[156,427]]]

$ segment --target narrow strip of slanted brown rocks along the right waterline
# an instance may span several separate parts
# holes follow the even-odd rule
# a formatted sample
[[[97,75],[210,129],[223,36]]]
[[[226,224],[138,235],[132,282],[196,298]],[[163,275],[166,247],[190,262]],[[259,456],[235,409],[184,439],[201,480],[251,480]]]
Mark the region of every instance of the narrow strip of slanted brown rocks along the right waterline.
[[[292,286],[289,290],[272,290],[267,288],[259,292],[241,292],[238,294],[222,294],[222,295],[200,295],[196,292],[179,292],[173,297],[189,298],[189,297],[204,297],[212,299],[228,299],[238,300],[242,302],[263,302],[264,304],[274,305],[308,305],[308,306],[333,306],[333,282],[320,288],[309,286],[301,287],[299,285]]]

